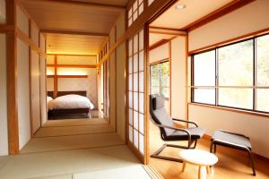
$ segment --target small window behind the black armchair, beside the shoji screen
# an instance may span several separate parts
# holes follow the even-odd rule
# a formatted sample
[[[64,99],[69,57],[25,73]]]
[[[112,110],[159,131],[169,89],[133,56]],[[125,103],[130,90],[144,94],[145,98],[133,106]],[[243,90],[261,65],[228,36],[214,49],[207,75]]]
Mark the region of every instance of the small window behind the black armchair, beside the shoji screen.
[[[151,94],[169,98],[169,62],[151,65]]]

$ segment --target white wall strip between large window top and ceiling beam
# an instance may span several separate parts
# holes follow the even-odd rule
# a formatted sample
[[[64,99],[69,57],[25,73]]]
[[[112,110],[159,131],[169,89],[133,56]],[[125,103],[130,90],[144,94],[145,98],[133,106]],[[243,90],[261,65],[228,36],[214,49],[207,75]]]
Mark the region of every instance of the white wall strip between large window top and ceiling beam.
[[[256,0],[188,34],[189,51],[269,27],[269,1]]]

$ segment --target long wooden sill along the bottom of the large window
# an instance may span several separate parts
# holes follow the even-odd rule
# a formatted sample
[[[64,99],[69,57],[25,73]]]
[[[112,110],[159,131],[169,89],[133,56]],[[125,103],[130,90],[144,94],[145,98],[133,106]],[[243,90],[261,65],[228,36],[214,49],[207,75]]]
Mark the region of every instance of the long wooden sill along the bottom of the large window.
[[[197,107],[209,107],[209,108],[220,109],[220,110],[224,110],[224,111],[230,111],[230,112],[234,112],[234,113],[241,113],[241,114],[245,114],[245,115],[256,115],[256,116],[262,116],[262,117],[269,117],[269,114],[258,113],[258,112],[254,112],[254,111],[247,111],[247,110],[242,110],[242,109],[234,109],[234,108],[230,108],[230,107],[215,107],[215,106],[199,104],[199,103],[188,103],[188,106],[189,105],[197,106]]]

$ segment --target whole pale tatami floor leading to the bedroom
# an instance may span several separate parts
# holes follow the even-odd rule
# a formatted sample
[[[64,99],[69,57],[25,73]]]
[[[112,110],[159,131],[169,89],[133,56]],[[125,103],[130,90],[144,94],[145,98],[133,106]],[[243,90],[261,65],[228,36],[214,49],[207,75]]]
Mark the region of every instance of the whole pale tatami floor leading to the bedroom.
[[[81,125],[84,123],[68,121],[64,126],[62,122],[49,122],[41,130],[53,133],[63,128],[63,131],[73,134],[36,137],[30,140],[20,155],[0,157],[0,178],[84,179],[90,175],[91,178],[109,175],[118,178],[119,173],[127,176],[138,171],[137,176],[150,179],[140,161],[116,132],[74,134],[81,130],[99,129],[97,124]],[[63,134],[63,131],[59,133]],[[46,132],[39,132],[39,135]]]

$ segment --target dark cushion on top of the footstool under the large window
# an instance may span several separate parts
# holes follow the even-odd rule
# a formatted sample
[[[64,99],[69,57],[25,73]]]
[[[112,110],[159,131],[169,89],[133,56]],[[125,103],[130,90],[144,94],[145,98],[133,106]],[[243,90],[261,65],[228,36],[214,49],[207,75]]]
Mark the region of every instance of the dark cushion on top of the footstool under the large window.
[[[231,148],[239,149],[239,146],[251,149],[250,141],[243,135],[237,135],[230,132],[215,131],[213,132],[212,141]]]

